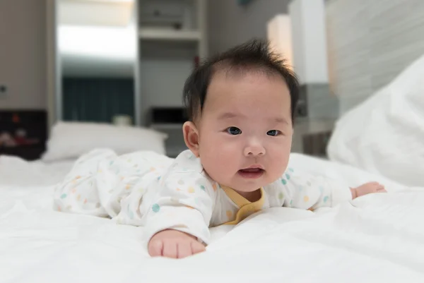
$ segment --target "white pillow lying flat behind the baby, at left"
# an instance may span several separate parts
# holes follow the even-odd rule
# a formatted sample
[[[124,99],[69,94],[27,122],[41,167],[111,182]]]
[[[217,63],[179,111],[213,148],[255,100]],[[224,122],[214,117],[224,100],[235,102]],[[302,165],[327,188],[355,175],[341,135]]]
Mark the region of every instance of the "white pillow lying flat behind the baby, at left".
[[[76,159],[90,150],[106,147],[118,155],[137,150],[165,154],[167,135],[148,128],[110,124],[59,122],[50,133],[45,162]]]

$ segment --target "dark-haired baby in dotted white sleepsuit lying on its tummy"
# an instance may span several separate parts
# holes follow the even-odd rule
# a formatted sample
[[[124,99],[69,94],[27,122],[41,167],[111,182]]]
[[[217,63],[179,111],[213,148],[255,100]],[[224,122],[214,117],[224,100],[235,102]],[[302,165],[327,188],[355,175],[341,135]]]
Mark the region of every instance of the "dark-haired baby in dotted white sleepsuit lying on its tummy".
[[[298,95],[295,74],[266,42],[232,48],[184,85],[189,150],[176,159],[94,150],[57,186],[55,207],[143,226],[150,255],[184,258],[205,250],[208,227],[268,207],[315,210],[385,192],[287,168]]]

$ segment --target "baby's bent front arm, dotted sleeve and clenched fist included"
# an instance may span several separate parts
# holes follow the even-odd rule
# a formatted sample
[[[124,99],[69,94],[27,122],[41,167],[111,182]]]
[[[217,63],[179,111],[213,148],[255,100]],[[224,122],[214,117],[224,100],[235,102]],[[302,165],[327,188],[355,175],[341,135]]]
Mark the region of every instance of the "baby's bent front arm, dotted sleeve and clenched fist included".
[[[215,191],[196,171],[165,174],[148,211],[145,237],[152,256],[184,258],[208,243]]]

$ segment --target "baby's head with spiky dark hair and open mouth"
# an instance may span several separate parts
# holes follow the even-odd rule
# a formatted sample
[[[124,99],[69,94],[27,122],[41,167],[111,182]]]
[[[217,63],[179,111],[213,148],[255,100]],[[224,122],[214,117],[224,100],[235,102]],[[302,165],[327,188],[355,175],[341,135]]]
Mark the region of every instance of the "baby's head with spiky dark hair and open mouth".
[[[213,57],[189,76],[184,140],[206,173],[246,197],[285,171],[298,80],[254,40]]]

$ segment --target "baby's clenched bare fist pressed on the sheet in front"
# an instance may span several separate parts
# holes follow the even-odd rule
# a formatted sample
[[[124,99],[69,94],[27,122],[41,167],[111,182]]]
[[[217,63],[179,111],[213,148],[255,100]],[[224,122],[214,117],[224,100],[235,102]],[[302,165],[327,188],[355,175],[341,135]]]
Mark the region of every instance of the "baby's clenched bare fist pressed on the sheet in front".
[[[151,256],[185,258],[202,251],[205,251],[205,246],[196,237],[177,230],[160,231],[148,242],[148,253]]]

